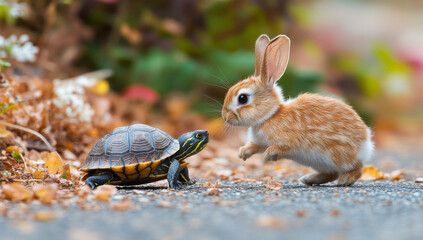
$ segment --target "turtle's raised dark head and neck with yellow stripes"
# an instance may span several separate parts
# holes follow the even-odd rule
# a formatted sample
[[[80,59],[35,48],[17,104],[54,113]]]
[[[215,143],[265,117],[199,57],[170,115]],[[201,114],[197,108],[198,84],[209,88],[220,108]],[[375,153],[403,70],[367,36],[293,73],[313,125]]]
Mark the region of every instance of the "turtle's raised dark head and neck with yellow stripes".
[[[179,138],[179,151],[175,154],[175,158],[183,160],[192,156],[206,147],[209,142],[209,132],[206,130],[197,130],[194,132],[184,133]]]

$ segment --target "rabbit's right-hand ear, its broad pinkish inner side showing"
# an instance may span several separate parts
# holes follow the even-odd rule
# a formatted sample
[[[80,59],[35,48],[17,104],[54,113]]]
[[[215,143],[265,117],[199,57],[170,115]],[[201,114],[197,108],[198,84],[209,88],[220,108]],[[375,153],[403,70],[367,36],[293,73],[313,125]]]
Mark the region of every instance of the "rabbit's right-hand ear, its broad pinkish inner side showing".
[[[267,86],[272,88],[285,72],[289,60],[291,41],[285,35],[279,35],[267,45],[261,65],[260,78]]]

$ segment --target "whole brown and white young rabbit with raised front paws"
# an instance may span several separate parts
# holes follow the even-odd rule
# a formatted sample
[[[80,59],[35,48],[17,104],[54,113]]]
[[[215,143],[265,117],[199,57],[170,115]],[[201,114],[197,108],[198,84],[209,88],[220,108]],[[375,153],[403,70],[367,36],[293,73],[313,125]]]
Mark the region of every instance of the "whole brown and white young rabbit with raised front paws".
[[[276,81],[285,72],[289,50],[287,36],[270,40],[261,35],[255,46],[254,76],[226,94],[223,119],[249,127],[249,141],[239,157],[246,160],[264,152],[265,161],[289,158],[317,171],[301,177],[304,184],[339,178],[339,186],[351,186],[362,174],[362,162],[373,153],[370,129],[340,100],[310,93],[285,100]]]

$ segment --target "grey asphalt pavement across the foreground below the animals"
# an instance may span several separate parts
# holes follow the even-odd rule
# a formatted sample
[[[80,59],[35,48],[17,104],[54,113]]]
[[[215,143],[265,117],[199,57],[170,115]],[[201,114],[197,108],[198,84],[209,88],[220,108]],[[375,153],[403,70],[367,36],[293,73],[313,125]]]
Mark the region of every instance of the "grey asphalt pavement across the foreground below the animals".
[[[180,191],[165,187],[121,188],[110,203],[92,201],[67,209],[9,204],[14,217],[0,217],[0,239],[422,239],[423,184],[359,181],[353,187],[307,187],[295,179],[220,182],[219,196],[199,184]],[[214,192],[216,195],[216,191]],[[110,205],[130,199],[125,211]],[[90,202],[90,200],[88,200]],[[31,211],[54,211],[58,218],[30,220]]]

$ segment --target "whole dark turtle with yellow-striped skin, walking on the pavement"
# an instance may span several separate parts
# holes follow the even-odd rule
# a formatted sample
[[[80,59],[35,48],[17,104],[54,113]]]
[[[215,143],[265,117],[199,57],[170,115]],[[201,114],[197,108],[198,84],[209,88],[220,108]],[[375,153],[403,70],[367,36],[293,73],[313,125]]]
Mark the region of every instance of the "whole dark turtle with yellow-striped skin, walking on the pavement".
[[[209,133],[197,130],[177,140],[160,129],[133,124],[115,128],[91,149],[80,171],[95,189],[103,184],[138,185],[167,179],[169,188],[195,184],[184,160],[206,147]]]

